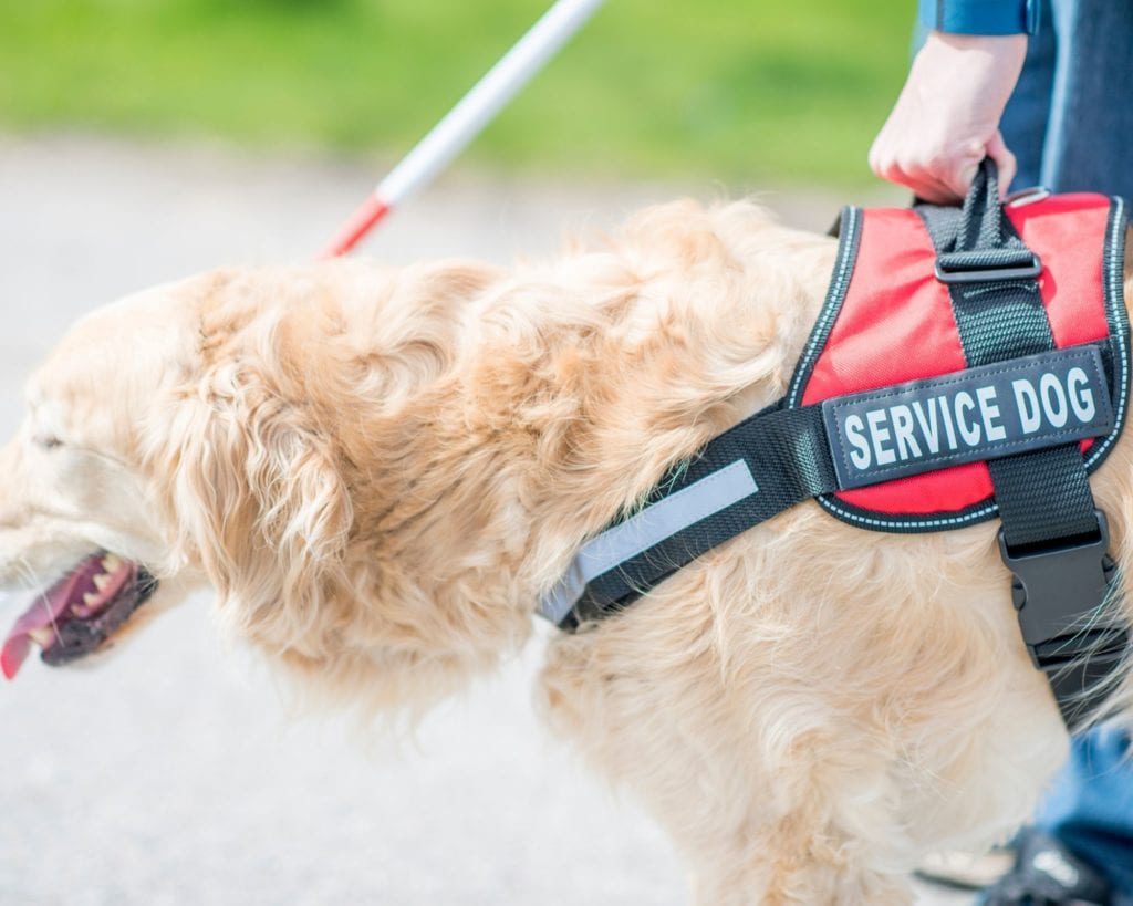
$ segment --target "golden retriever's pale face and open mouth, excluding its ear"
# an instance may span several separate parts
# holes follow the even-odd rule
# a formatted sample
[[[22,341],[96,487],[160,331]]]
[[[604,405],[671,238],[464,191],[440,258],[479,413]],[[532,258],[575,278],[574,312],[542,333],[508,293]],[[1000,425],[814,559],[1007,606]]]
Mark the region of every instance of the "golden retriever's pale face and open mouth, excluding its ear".
[[[190,367],[162,298],[76,325],[28,382],[27,416],[0,451],[0,582],[31,593],[0,653],[8,677],[33,643],[49,664],[107,647],[157,586],[146,564],[165,561],[171,536],[135,429]]]

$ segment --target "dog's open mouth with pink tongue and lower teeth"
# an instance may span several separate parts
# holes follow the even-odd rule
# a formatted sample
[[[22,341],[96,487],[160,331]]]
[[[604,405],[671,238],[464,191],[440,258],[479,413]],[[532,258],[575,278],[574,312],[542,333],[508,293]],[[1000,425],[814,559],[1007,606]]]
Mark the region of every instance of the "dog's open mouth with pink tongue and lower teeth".
[[[136,563],[100,552],[36,596],[0,649],[0,670],[11,680],[32,650],[58,666],[97,650],[157,588]]]

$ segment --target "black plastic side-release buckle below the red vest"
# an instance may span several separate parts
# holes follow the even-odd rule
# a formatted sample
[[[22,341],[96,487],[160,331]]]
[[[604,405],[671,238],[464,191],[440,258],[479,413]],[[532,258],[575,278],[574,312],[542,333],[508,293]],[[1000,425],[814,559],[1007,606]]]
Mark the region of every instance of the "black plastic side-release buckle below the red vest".
[[[1011,596],[1023,641],[1040,669],[1048,666],[1050,642],[1064,639],[1071,647],[1070,640],[1088,626],[1085,616],[1106,600],[1117,575],[1117,566],[1107,554],[1106,514],[1094,510],[1094,515],[1097,538],[1021,554],[1011,553],[999,529],[999,554],[1014,574]]]

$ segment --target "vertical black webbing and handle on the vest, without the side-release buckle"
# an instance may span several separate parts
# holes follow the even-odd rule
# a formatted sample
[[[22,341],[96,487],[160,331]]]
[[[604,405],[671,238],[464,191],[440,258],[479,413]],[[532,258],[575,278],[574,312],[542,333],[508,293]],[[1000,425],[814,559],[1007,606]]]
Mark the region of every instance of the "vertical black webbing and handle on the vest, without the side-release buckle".
[[[948,270],[974,273],[1033,258],[1003,214],[990,161],[961,211],[918,205],[917,213],[932,237],[938,262]],[[969,366],[1055,349],[1033,277],[955,282],[948,289]],[[1093,495],[1077,444],[994,460],[988,468],[1012,549],[1097,535]]]

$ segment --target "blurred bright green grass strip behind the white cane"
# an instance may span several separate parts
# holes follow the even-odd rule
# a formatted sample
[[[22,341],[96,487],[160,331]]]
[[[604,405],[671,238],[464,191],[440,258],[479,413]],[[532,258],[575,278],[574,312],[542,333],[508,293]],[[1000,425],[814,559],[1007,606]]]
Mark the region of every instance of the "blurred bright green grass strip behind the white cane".
[[[3,0],[0,126],[408,147],[550,0]],[[477,140],[559,173],[855,182],[912,2],[610,0]]]

